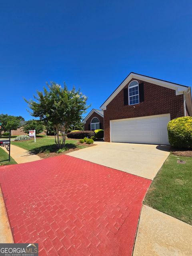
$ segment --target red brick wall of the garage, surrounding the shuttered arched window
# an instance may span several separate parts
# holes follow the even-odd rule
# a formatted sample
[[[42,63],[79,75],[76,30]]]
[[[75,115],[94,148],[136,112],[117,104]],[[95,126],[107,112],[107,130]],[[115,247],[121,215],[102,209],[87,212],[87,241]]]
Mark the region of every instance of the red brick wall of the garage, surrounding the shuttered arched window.
[[[136,79],[132,79],[136,80]],[[110,142],[110,120],[169,114],[171,119],[184,116],[183,95],[176,95],[175,90],[144,83],[144,102],[124,106],[124,88],[115,96],[104,110],[104,139]],[[135,108],[134,108],[135,107]]]

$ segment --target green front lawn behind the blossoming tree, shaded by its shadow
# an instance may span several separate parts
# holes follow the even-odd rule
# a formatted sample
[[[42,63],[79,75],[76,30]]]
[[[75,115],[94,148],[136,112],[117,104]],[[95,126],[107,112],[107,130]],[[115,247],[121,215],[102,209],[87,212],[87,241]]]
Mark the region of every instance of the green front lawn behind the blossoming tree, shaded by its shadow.
[[[78,140],[66,140],[67,148],[84,148],[85,146],[77,145]],[[28,151],[32,151],[34,154],[44,152],[46,149],[50,152],[56,152],[58,148],[56,147],[54,138],[36,138],[24,140],[24,141],[11,141],[11,144],[24,148]]]

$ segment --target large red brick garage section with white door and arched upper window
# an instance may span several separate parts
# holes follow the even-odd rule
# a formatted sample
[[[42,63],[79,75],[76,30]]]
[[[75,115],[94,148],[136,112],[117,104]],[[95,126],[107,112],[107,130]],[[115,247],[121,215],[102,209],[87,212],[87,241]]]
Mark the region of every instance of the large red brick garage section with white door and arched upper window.
[[[106,142],[169,144],[167,123],[192,116],[191,89],[130,73],[100,108]]]

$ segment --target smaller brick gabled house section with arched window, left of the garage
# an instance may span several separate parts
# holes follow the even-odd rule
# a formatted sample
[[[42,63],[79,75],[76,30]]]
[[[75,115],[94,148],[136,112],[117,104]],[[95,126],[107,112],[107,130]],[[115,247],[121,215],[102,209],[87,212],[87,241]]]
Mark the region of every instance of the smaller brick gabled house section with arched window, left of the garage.
[[[103,129],[103,111],[92,109],[84,118],[84,130],[94,131],[96,129]]]

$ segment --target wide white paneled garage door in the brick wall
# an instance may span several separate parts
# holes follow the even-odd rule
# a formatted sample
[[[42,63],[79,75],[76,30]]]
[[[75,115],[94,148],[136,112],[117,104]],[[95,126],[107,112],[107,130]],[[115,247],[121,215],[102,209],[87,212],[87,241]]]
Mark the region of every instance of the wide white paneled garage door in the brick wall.
[[[111,142],[167,145],[170,114],[110,121]]]

